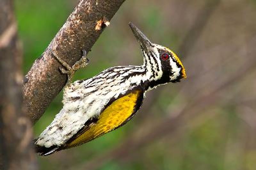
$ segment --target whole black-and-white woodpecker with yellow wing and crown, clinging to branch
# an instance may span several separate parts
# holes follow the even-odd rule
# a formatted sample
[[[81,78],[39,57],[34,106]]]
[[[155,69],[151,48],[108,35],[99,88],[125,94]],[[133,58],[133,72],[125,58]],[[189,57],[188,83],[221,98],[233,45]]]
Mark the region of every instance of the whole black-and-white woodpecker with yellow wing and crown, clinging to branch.
[[[172,50],[151,43],[136,26],[129,25],[144,56],[142,66],[111,67],[71,84],[75,71],[88,64],[86,53],[72,67],[54,55],[66,68],[60,70],[68,74],[68,85],[63,93],[63,108],[35,140],[39,155],[87,143],[121,127],[140,109],[147,91],[186,78],[185,68]]]

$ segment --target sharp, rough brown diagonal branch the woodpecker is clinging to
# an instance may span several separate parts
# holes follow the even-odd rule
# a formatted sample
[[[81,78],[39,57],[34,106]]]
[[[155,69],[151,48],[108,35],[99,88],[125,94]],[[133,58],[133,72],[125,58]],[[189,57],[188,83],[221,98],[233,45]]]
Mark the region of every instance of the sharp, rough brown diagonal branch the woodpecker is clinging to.
[[[60,73],[60,63],[52,57],[52,51],[70,66],[73,65],[81,58],[82,49],[87,52],[91,50],[123,2],[124,0],[81,0],[75,7],[24,78],[24,103],[33,123],[43,115],[67,81],[67,75]]]

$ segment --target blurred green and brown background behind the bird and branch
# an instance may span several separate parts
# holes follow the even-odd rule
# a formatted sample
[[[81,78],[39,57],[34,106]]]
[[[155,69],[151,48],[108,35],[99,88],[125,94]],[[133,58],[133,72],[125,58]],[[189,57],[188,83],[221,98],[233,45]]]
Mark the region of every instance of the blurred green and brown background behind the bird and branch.
[[[98,0],[100,3],[100,0]],[[16,0],[24,73],[46,49],[76,0]],[[177,52],[188,78],[148,92],[122,128],[79,147],[38,157],[40,169],[256,169],[256,1],[127,0],[89,53],[85,79],[143,57],[132,21]],[[35,137],[62,107],[55,98]]]

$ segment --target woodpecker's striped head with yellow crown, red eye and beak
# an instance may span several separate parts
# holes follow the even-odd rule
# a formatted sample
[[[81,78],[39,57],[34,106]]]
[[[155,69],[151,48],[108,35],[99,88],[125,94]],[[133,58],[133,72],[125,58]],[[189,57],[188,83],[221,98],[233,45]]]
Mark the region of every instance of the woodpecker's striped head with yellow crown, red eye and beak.
[[[185,68],[172,50],[151,43],[136,26],[131,22],[129,25],[140,43],[149,81],[160,81],[160,84],[164,84],[170,81],[177,82],[182,78],[186,78]]]

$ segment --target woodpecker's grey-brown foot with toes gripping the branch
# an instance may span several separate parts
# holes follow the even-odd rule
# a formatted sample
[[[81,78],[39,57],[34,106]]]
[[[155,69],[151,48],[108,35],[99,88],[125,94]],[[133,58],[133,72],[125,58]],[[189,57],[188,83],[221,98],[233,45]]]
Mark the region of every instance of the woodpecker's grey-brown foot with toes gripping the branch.
[[[54,51],[52,51],[52,55],[60,62],[60,64],[65,67],[59,67],[61,73],[68,75],[68,81],[65,85],[65,88],[68,87],[71,84],[71,80],[79,68],[84,68],[88,65],[89,59],[86,57],[87,53],[85,50],[83,51],[83,56],[76,61],[76,63],[73,66],[69,66],[63,59],[61,59]],[[64,88],[64,89],[65,89]]]

